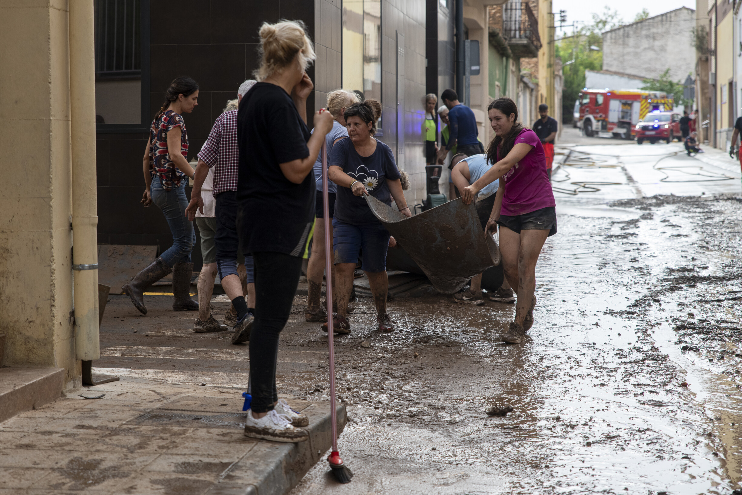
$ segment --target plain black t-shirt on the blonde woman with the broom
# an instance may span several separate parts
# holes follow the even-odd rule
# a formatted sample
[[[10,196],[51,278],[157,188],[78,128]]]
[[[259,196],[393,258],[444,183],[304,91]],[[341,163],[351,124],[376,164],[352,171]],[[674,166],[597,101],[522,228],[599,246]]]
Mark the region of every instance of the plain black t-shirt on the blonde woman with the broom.
[[[278,164],[308,157],[310,136],[291,96],[280,86],[258,82],[240,102],[237,200],[245,253],[306,257],[315,217],[315,177],[309,173],[301,184],[292,183]]]

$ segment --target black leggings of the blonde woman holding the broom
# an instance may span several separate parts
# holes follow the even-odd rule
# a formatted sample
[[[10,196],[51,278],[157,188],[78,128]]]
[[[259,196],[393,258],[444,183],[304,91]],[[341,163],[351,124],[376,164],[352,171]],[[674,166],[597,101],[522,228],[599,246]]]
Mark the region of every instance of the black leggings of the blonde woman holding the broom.
[[[278,401],[278,335],[289,321],[301,275],[301,258],[280,252],[255,252],[255,324],[250,332],[250,390],[254,413]]]

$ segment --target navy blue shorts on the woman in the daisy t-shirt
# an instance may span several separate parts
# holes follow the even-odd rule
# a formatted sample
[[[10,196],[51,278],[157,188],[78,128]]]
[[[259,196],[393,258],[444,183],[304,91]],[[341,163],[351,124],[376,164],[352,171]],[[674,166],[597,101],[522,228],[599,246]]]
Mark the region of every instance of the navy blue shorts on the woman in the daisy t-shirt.
[[[362,251],[361,269],[364,272],[384,272],[387,269],[389,237],[389,231],[381,223],[350,225],[333,220],[332,246],[335,264],[358,263]]]

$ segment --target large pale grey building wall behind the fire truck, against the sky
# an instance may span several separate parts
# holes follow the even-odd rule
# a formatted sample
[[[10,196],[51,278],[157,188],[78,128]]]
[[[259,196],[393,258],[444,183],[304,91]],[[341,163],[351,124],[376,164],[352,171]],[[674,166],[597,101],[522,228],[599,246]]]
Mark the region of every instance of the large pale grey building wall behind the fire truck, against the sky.
[[[680,7],[603,33],[603,70],[683,82],[695,68],[695,10]]]

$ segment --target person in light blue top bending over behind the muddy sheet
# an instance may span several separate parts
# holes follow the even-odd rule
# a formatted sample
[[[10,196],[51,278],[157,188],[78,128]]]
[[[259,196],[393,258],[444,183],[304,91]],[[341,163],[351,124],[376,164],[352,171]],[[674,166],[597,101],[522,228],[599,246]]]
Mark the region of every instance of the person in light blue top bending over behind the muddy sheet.
[[[473,184],[492,166],[487,160],[487,154],[484,153],[473,154],[470,157],[459,153],[453,157],[451,162],[453,163],[451,177],[453,177],[453,183],[456,184],[459,191]],[[485,186],[476,196],[476,214],[479,216],[479,222],[482,223],[482,231],[485,230],[490,212],[492,212],[498,186],[499,180],[496,180]],[[482,274],[474,275],[471,278],[469,290],[453,295],[453,300],[457,303],[474,304],[476,306],[484,304],[485,300],[482,298]],[[507,279],[503,281],[502,286],[490,297],[490,300],[499,302],[515,301],[513,290],[510,289]]]

